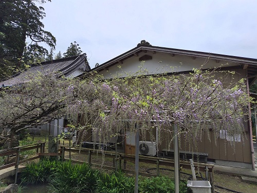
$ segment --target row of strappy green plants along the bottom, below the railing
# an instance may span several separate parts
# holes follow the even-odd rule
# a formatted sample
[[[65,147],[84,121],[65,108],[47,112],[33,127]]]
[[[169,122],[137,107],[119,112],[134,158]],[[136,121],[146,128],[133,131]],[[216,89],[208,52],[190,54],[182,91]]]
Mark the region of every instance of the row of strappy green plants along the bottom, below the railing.
[[[60,193],[130,193],[134,192],[134,177],[123,172],[104,172],[91,168],[86,163],[72,164],[44,159],[30,163],[22,171],[22,184],[47,183],[48,192]],[[138,192],[174,192],[174,182],[169,177],[140,177]],[[179,192],[190,192],[186,182],[181,182]]]

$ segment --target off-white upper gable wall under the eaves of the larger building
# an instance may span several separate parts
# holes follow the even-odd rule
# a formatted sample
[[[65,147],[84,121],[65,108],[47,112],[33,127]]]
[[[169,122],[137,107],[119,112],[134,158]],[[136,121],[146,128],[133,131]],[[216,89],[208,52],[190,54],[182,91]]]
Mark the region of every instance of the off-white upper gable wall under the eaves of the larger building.
[[[152,56],[152,60],[146,60],[142,63],[139,61],[139,58],[144,55]],[[201,65],[206,63],[207,59],[196,57],[194,60],[191,56],[182,55],[175,55],[172,57],[170,54],[164,52],[156,52],[156,54],[152,54],[151,52],[140,52],[138,57],[131,57],[122,62],[122,64],[116,64],[108,67],[108,70],[105,69],[104,71],[99,72],[99,74],[103,75],[105,78],[114,78],[117,77],[117,74],[119,74],[119,77],[125,77],[127,73],[131,74],[138,72],[140,69],[139,66],[142,64],[142,69],[146,69],[148,74],[192,71],[193,68],[199,68]],[[216,63],[215,60],[210,59],[203,68],[214,68],[221,65],[233,66],[236,64],[227,64],[225,61],[219,61],[219,63]],[[121,68],[118,66],[121,66]]]

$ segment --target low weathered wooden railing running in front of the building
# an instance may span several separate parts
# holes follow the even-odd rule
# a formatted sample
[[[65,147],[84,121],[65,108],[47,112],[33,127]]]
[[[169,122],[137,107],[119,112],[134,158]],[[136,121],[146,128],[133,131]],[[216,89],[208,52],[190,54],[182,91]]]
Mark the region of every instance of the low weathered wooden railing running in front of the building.
[[[31,150],[31,149],[36,149],[36,152],[38,154],[36,156],[33,156],[28,159],[20,161],[20,153],[23,151]],[[69,159],[65,159],[65,152],[69,152]],[[72,152],[88,155],[87,160],[84,160],[83,162],[77,161],[77,160],[72,160],[71,159]],[[0,151],[0,156],[10,156],[10,155],[15,156],[15,162],[1,166],[0,170],[14,166],[15,170],[16,170],[15,171],[15,183],[16,183],[19,164],[23,164],[23,163],[26,163],[31,160],[39,159],[41,156],[44,156],[44,155],[50,155],[50,156],[62,156],[62,160],[70,160],[73,163],[79,163],[79,164],[88,163],[89,165],[91,165],[93,167],[97,167],[97,168],[116,170],[116,171],[121,170],[121,171],[129,173],[129,174],[134,174],[134,171],[128,170],[126,168],[126,163],[127,163],[127,161],[135,162],[135,155],[118,153],[118,152],[114,152],[114,151],[104,151],[105,157],[111,157],[113,159],[113,167],[111,167],[111,166],[104,166],[101,164],[92,163],[91,156],[97,155],[97,154],[99,154],[99,152],[97,152],[97,150],[94,150],[94,149],[76,148],[76,147],[64,146],[64,145],[60,145],[58,154],[57,153],[45,153],[45,142],[43,142],[43,143],[38,143],[38,144],[15,147],[10,150]],[[122,167],[122,160],[123,160],[123,167]],[[160,166],[174,167],[174,160],[166,159],[166,158],[162,158],[162,157],[140,155],[139,162],[156,165],[156,174],[139,172],[139,174],[141,176],[146,176],[146,177],[159,176]],[[205,164],[205,163],[195,163],[195,165],[197,167],[199,167],[200,171],[205,172],[206,179],[210,181],[210,183],[212,185],[212,190],[214,190],[214,165],[213,164]],[[186,161],[180,161],[180,168],[181,167],[191,169],[190,163],[186,162]]]

